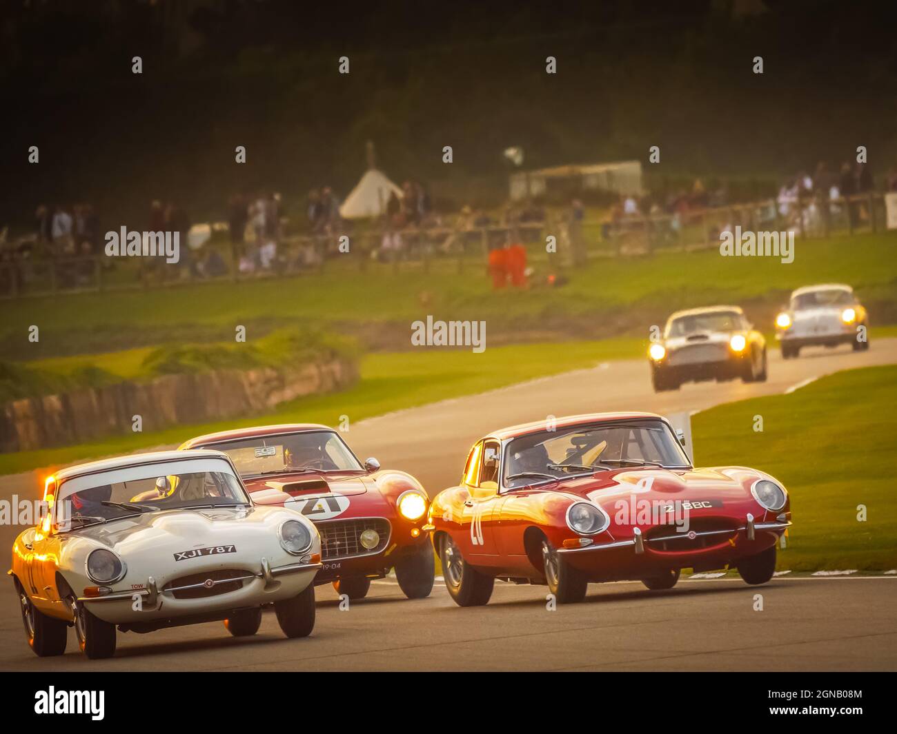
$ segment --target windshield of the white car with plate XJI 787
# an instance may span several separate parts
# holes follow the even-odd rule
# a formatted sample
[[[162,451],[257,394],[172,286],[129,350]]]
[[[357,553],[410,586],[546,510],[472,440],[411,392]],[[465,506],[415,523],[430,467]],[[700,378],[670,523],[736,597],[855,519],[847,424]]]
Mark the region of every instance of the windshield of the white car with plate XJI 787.
[[[120,518],[189,507],[248,505],[246,490],[222,459],[129,466],[62,482],[57,493],[59,531]]]

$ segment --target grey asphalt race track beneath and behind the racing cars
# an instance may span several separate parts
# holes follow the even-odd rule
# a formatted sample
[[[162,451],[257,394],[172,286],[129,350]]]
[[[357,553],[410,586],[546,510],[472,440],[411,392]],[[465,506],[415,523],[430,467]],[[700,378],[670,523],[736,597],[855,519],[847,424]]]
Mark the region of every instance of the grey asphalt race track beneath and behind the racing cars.
[[[562,352],[559,343],[559,358]],[[376,456],[384,467],[414,473],[432,495],[457,481],[470,445],[492,428],[598,410],[671,414],[783,393],[840,369],[897,363],[897,340],[873,341],[861,353],[807,349],[787,362],[778,350],[769,356],[765,384],[686,384],[655,394],[647,360],[608,362],[361,421],[345,437],[362,459]],[[351,405],[342,412],[351,420]],[[700,445],[695,453],[700,465]],[[0,497],[37,493],[30,472],[0,478]],[[0,548],[11,548],[21,530],[0,527]],[[640,583],[592,584],[585,603],[549,611],[542,586],[497,583],[488,606],[461,609],[440,581],[429,599],[409,601],[384,579],[347,610],[338,608],[330,586],[318,587],[318,621],[308,639],[285,639],[274,615],[266,614],[253,638],[233,638],[221,623],[128,633],[118,636],[114,659],[88,661],[71,630],[65,656],[39,659],[30,652],[6,582],[0,585],[0,669],[893,670],[895,583],[893,575],[785,575],[762,587],[737,579],[684,580],[668,592],[649,592]],[[762,611],[754,611],[758,593]]]

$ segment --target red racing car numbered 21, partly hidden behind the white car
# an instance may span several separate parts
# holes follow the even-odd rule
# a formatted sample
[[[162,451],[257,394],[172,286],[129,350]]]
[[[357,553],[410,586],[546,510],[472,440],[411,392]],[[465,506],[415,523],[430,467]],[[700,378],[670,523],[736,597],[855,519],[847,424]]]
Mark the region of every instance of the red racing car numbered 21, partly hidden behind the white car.
[[[408,599],[429,596],[433,552],[426,522],[429,500],[404,471],[363,464],[327,426],[291,424],[222,431],[191,438],[182,449],[227,453],[258,505],[283,505],[314,522],[323,568],[315,584],[332,582],[350,599],[395,567]]]

